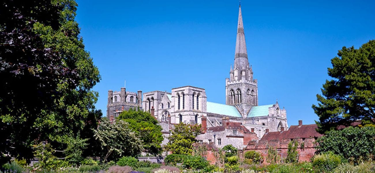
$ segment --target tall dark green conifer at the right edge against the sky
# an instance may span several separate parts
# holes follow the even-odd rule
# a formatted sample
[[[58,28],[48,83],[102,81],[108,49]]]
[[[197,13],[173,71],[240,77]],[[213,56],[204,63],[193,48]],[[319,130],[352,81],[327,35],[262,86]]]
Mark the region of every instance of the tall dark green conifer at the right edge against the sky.
[[[335,130],[358,119],[362,124],[374,124],[375,118],[375,40],[359,49],[343,47],[328,68],[331,80],[317,95],[318,105],[312,105],[319,116],[318,131]]]

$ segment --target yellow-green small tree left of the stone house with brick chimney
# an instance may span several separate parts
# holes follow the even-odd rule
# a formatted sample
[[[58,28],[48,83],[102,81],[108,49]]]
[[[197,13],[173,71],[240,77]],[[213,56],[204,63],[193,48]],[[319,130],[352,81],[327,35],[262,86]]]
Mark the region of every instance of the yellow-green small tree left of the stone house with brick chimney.
[[[196,136],[201,134],[201,125],[176,124],[165,149],[174,154],[192,154],[192,144],[196,142]]]

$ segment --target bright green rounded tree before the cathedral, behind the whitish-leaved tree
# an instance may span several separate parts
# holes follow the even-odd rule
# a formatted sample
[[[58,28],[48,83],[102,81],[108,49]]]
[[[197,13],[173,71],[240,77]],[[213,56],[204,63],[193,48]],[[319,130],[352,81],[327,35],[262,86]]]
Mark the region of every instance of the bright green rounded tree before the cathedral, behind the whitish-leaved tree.
[[[121,112],[118,119],[129,123],[129,128],[143,141],[144,152],[160,154],[161,143],[164,139],[162,127],[149,112],[144,112],[139,108],[129,109]]]

